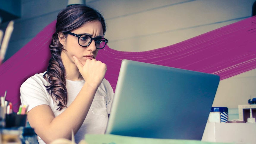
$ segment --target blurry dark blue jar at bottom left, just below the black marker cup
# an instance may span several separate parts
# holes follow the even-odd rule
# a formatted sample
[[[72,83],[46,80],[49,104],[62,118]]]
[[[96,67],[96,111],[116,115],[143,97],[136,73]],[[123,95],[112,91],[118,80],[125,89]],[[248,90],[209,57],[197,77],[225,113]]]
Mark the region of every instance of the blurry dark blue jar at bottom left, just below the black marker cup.
[[[34,129],[31,127],[23,128],[21,140],[23,144],[38,144],[37,134],[35,133]]]

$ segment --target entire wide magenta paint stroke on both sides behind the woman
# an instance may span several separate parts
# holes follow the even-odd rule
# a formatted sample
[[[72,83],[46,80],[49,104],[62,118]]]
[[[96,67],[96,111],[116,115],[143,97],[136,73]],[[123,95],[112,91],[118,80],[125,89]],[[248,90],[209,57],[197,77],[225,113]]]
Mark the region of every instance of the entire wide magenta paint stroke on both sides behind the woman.
[[[20,104],[20,85],[48,66],[48,46],[55,23],[46,26],[0,67],[0,95],[8,91],[7,100],[14,104],[15,112]],[[97,60],[107,64],[105,78],[114,90],[123,59],[217,74],[223,80],[256,69],[255,23],[256,17],[247,18],[175,45],[144,52],[117,51],[106,46],[99,51]]]

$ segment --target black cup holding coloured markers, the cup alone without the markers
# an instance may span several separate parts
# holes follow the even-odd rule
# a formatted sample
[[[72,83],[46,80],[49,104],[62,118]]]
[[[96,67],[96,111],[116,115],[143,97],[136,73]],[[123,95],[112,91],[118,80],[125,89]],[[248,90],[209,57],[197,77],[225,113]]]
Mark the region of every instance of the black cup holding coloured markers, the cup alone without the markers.
[[[6,114],[5,115],[5,127],[10,128],[10,127],[20,127],[26,126],[26,121],[27,121],[27,115],[17,115],[17,113],[12,113],[12,114]]]

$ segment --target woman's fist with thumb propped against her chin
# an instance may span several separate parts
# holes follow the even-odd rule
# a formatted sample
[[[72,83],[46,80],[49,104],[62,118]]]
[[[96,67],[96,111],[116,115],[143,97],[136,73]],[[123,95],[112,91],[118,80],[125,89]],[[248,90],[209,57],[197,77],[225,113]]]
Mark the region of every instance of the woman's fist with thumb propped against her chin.
[[[106,64],[96,59],[87,59],[83,65],[77,57],[73,56],[73,59],[83,79],[91,86],[98,87],[107,71]]]

